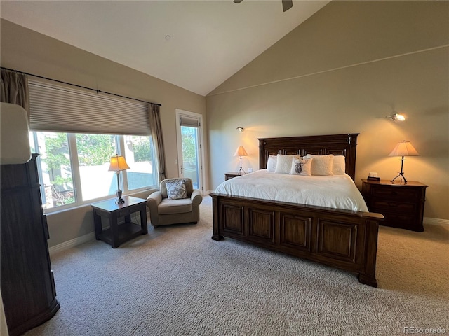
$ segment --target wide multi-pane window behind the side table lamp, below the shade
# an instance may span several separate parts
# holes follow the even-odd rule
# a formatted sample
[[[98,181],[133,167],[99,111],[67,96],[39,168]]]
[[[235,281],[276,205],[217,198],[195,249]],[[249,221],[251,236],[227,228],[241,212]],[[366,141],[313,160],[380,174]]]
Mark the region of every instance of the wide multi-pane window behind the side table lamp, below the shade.
[[[30,132],[38,158],[42,205],[46,212],[114,197],[116,174],[111,156],[125,156],[130,169],[121,172],[123,194],[156,186],[151,137],[111,134]]]

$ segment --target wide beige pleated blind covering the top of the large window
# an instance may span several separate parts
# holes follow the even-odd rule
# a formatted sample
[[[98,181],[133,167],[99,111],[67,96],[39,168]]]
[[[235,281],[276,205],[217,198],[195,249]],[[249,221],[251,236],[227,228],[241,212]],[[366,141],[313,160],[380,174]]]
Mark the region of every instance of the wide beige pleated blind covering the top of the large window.
[[[150,135],[148,104],[29,80],[33,131]]]

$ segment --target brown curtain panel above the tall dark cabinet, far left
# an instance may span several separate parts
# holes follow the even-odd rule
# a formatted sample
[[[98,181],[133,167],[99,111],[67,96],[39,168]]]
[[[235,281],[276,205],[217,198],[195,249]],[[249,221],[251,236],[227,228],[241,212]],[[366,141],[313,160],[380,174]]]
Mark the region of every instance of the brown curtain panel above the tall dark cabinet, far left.
[[[28,76],[24,73],[1,69],[0,101],[22,106],[28,113],[29,121]]]

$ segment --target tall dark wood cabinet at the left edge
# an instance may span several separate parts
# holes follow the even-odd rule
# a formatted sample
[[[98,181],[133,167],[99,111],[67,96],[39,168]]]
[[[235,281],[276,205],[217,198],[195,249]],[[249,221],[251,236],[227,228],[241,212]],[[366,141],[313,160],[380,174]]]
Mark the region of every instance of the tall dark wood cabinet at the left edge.
[[[60,307],[36,157],[1,165],[1,296],[11,336],[48,321]]]

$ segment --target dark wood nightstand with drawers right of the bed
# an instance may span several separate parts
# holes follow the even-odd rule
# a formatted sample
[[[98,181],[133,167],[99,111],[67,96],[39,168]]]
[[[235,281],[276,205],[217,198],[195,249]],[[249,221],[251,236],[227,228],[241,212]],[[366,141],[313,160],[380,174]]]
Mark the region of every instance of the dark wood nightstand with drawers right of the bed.
[[[384,215],[380,223],[394,228],[424,231],[425,184],[408,181],[407,184],[390,181],[368,181],[362,179],[362,195],[368,209]]]

